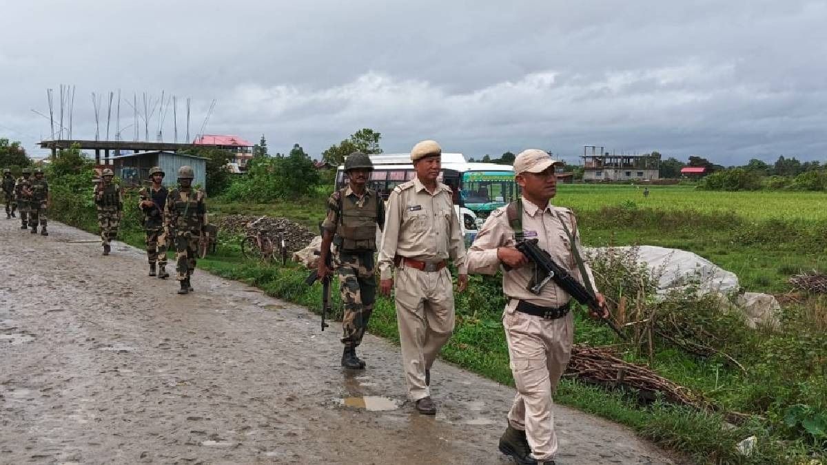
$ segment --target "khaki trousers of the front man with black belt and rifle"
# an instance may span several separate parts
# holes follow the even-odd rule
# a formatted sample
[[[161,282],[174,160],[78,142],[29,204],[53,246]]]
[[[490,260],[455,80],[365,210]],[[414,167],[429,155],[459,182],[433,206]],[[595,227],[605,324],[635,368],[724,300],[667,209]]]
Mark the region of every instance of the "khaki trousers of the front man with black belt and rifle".
[[[569,312],[561,319],[542,319],[516,312],[516,306],[517,300],[511,300],[503,314],[517,387],[509,423],[514,429],[525,430],[534,458],[552,460],[557,453],[552,395],[571,358],[574,315]]]

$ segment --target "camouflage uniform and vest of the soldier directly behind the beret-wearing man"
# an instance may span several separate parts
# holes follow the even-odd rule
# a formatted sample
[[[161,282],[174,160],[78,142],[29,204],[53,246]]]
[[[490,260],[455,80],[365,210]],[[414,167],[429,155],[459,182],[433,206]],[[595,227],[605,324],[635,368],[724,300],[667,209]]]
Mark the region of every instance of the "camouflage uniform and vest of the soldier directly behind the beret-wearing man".
[[[336,232],[333,267],[339,276],[345,348],[356,348],[365,335],[376,295],[374,252],[376,225],[385,223],[385,204],[375,190],[365,189],[361,198],[348,185],[327,199],[326,231]]]

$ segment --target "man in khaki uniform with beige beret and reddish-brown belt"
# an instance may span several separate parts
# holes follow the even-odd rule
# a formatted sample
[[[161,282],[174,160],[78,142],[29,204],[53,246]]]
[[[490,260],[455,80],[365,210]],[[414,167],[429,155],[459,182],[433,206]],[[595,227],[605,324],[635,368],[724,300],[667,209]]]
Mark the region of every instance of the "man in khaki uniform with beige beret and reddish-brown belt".
[[[421,141],[411,150],[416,177],[390,193],[379,252],[380,292],[390,295],[396,267],[396,319],[408,396],[434,415],[431,366],[454,329],[454,295],[447,259],[457,266],[457,291],[468,284],[466,251],[451,189],[437,181],[442,148]]]

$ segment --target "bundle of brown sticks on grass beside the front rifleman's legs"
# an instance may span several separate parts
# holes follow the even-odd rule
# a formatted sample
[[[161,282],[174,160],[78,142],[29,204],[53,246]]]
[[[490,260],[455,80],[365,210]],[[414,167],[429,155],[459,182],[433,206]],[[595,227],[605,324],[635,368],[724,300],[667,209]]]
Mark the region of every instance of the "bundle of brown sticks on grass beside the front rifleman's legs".
[[[610,348],[590,348],[577,344],[571,348],[569,362],[563,376],[610,389],[625,388],[638,392],[640,400],[652,401],[658,396],[679,405],[706,408],[708,403],[684,386],[667,380],[648,367],[624,362]]]

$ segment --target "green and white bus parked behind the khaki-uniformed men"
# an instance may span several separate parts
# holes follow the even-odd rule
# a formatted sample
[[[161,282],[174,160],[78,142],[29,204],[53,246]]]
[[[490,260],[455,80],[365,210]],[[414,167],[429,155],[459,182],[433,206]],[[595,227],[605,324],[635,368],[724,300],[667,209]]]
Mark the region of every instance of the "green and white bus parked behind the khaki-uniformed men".
[[[413,180],[416,176],[409,153],[371,155],[374,170],[370,174],[370,189],[375,189],[388,199],[396,185]],[[511,165],[468,162],[461,153],[442,154],[442,173],[439,180],[454,191],[453,203],[460,219],[466,244],[470,244],[485,218],[495,209],[508,204],[519,196],[519,186],[514,181]],[[336,188],[347,184],[344,165],[339,166]]]

